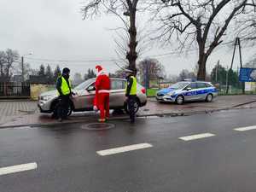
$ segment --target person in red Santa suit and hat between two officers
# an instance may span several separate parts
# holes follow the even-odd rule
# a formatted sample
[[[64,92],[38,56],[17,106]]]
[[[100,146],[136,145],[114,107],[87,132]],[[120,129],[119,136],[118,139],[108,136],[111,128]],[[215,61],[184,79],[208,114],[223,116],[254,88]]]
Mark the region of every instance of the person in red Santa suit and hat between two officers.
[[[108,74],[102,70],[101,66],[96,66],[98,71],[95,88],[96,95],[94,99],[94,108],[97,108],[101,112],[100,121],[104,122],[106,118],[109,118],[109,90],[110,80]]]

